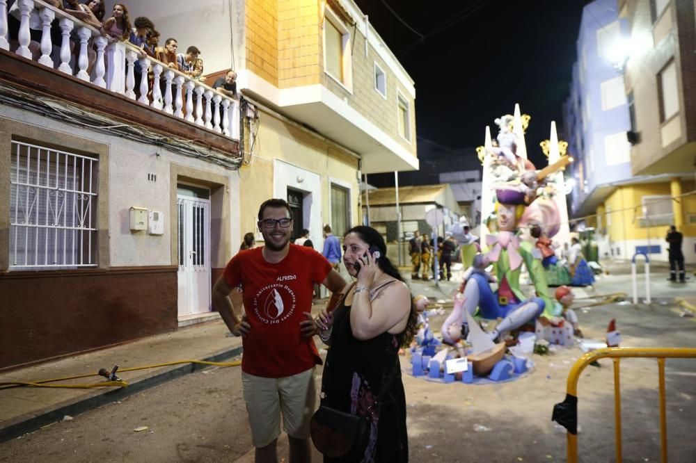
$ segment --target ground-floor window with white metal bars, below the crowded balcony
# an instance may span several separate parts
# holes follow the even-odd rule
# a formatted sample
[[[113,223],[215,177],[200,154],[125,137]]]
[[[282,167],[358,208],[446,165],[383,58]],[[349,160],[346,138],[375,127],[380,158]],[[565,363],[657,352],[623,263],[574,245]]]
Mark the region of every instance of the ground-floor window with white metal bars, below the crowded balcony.
[[[98,160],[12,142],[10,269],[97,266]]]

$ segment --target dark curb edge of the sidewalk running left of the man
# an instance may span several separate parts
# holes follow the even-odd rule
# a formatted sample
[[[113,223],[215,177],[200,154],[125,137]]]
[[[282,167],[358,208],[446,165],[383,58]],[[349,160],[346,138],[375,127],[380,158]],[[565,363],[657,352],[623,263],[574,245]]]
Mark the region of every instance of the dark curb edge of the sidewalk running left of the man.
[[[242,354],[242,346],[237,346],[232,349],[221,350],[216,352],[209,357],[205,357],[201,360],[205,362],[223,362],[231,357],[237,357],[237,355]],[[20,416],[17,419],[6,421],[5,423],[0,423],[0,444],[10,439],[15,439],[16,437],[22,436],[27,432],[33,432],[46,425],[56,423],[63,419],[63,416],[77,416],[84,412],[88,412],[91,409],[101,407],[108,403],[116,402],[128,396],[132,396],[135,393],[145,391],[151,387],[158,386],[164,382],[175,380],[178,377],[188,375],[189,373],[194,373],[196,371],[207,368],[208,365],[201,364],[184,364],[181,366],[176,366],[161,373],[145,377],[141,380],[137,380],[132,384],[128,384],[128,387],[111,389],[108,391],[100,392],[94,396],[88,398],[78,398],[74,402],[70,400],[66,401],[65,405],[59,405],[57,408],[47,407],[46,409],[38,412],[37,414]]]

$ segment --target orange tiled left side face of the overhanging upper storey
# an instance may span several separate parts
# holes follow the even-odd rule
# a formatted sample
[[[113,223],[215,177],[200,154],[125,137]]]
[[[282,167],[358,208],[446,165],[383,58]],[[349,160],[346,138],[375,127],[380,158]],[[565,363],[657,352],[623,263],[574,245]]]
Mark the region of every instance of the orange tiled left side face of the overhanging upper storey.
[[[246,0],[246,68],[278,86],[278,5],[280,0]]]

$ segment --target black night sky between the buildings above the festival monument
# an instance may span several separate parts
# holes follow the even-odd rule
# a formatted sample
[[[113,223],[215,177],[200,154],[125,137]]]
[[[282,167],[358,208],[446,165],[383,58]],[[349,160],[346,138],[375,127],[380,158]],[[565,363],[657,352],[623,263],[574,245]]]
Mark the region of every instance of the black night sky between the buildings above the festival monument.
[[[545,163],[539,142],[552,120],[562,131],[588,0],[355,1],[416,82],[419,138],[454,149],[483,145],[485,126],[495,137],[493,120],[519,103],[532,116],[529,157],[537,168]]]

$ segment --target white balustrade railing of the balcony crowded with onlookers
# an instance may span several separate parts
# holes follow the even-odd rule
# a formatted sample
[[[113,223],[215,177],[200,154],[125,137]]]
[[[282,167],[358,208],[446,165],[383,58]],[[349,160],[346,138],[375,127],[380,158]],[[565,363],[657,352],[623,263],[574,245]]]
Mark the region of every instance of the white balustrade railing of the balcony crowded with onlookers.
[[[40,56],[36,61],[41,65],[70,74],[111,92],[125,95],[132,100],[136,100],[137,88],[139,103],[221,133],[232,140],[239,140],[239,101],[237,99],[221,95],[205,83],[193,80],[178,70],[170,69],[159,60],[149,56],[143,57],[143,51],[129,42],[109,43],[109,38],[97,29],[40,0],[17,0],[17,6],[21,14],[19,33],[17,38],[11,39],[19,42],[19,45],[10,50],[7,0],[0,0],[0,49],[13,51],[19,56],[32,60],[32,52],[29,49],[30,17],[32,13],[36,13],[42,28]],[[54,21],[58,21],[62,33],[59,49],[57,49],[58,44],[52,42],[50,33],[51,24]],[[75,31],[79,38],[79,43],[75,43],[74,48],[70,46],[72,31]],[[89,67],[87,50],[91,47],[90,40],[96,49],[91,75],[87,72]],[[139,82],[136,82],[136,66],[141,71]],[[151,94],[148,82],[150,68],[153,75]],[[162,95],[161,81],[164,81],[164,95]],[[193,96],[194,94],[196,97]]]

